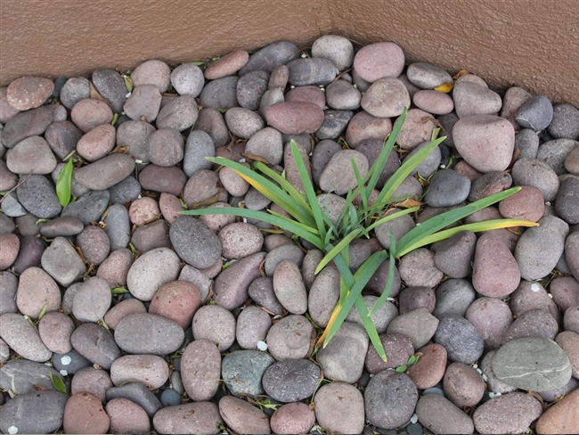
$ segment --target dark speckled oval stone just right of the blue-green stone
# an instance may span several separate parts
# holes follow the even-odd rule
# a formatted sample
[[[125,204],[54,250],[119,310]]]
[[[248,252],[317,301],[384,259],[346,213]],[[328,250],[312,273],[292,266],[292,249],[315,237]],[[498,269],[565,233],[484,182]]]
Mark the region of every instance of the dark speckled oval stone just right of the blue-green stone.
[[[288,359],[265,370],[262,383],[268,396],[283,403],[297,402],[314,394],[322,370],[307,359]]]

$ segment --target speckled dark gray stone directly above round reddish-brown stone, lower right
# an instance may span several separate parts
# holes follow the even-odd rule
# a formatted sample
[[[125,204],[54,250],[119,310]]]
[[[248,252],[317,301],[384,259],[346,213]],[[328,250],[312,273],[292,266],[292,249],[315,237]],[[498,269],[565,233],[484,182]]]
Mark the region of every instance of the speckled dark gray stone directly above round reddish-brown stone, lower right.
[[[444,346],[449,359],[468,365],[477,361],[485,349],[483,337],[477,328],[458,315],[447,315],[439,319],[433,341]]]

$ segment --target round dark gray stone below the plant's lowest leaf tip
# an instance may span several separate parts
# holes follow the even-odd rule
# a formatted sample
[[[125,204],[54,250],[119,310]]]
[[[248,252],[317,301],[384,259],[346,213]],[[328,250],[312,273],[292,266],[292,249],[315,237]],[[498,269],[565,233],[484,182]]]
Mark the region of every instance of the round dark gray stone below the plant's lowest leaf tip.
[[[396,429],[410,419],[418,402],[414,382],[404,373],[375,374],[364,391],[366,417],[381,429]]]

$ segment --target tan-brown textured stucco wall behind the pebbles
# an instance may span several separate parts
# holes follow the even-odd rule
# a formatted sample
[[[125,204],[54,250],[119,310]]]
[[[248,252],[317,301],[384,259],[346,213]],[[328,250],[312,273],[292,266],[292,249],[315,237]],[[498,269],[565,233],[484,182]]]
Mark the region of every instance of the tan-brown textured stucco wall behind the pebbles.
[[[0,86],[330,33],[579,106],[577,0],[0,0]]]

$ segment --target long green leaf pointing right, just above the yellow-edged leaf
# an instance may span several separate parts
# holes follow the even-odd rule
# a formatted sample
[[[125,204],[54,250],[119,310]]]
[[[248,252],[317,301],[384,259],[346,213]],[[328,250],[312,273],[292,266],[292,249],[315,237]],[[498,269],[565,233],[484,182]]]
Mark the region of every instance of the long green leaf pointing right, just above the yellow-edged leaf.
[[[494,193],[491,196],[487,196],[482,200],[475,201],[469,205],[465,205],[460,209],[453,209],[446,211],[438,216],[429,218],[426,222],[423,222],[420,226],[412,228],[411,231],[404,234],[402,239],[398,241],[396,257],[400,257],[402,252],[409,252],[408,248],[420,242],[421,239],[427,237],[430,234],[436,233],[436,231],[443,229],[445,226],[449,226],[460,220],[462,217],[467,217],[470,214],[478,211],[479,209],[484,209],[489,205],[493,205],[495,202],[502,201],[509,197],[513,193],[517,193],[521,188],[512,187],[509,190]]]

